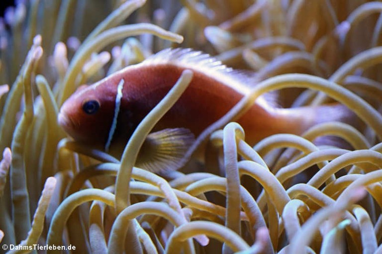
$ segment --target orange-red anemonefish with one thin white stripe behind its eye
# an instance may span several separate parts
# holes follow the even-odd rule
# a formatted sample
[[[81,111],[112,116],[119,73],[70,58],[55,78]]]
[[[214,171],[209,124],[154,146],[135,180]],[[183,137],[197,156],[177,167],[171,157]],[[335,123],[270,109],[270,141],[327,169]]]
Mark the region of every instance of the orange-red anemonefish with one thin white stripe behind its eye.
[[[62,105],[59,124],[76,141],[120,156],[137,125],[185,69],[194,73],[191,84],[148,136],[151,142],[145,142],[146,149],[152,153],[138,160],[149,170],[171,168],[191,146],[194,135],[221,118],[256,85],[254,78],[201,52],[165,49],[94,85],[79,88]],[[301,134],[314,124],[351,116],[338,103],[280,108],[264,95],[237,122],[246,131],[246,141],[254,145],[272,134]]]

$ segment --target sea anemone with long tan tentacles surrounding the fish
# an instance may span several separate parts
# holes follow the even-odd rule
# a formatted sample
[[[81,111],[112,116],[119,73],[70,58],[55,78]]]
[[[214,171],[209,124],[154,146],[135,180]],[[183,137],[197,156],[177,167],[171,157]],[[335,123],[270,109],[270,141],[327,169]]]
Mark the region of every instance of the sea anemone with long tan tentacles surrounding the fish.
[[[0,19],[2,250],[381,253],[381,11],[360,0],[19,0]],[[197,137],[180,169],[135,166],[189,70],[121,158],[58,125],[78,86],[179,46],[257,83]],[[270,91],[284,107],[338,101],[363,124],[321,123],[251,147],[252,130],[234,121]]]

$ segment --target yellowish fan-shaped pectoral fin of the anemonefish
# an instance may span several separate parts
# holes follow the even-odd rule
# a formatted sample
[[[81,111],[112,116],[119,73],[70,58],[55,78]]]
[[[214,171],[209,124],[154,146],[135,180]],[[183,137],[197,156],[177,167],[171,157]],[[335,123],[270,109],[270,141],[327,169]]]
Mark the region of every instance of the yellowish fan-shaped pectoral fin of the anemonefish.
[[[194,141],[194,135],[185,128],[150,133],[139,152],[136,166],[152,172],[177,169]]]

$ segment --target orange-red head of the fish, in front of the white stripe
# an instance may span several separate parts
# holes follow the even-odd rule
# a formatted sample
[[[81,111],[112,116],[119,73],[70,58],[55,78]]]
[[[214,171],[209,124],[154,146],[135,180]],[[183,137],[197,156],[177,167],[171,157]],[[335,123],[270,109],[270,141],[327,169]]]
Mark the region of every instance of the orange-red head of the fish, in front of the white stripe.
[[[103,146],[114,115],[115,92],[81,86],[62,105],[59,125],[76,141]]]

